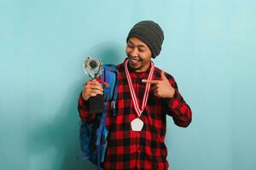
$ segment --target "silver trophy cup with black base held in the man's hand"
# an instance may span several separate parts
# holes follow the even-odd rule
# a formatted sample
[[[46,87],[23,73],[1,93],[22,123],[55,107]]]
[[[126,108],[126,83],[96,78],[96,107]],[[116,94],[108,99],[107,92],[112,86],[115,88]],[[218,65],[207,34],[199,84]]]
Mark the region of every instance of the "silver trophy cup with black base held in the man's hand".
[[[102,75],[103,64],[101,59],[92,58],[90,56],[86,56],[84,58],[83,64],[84,72],[92,79],[96,80],[98,77]],[[90,97],[89,101],[89,112],[99,114],[104,111],[104,96],[96,95],[94,97]]]

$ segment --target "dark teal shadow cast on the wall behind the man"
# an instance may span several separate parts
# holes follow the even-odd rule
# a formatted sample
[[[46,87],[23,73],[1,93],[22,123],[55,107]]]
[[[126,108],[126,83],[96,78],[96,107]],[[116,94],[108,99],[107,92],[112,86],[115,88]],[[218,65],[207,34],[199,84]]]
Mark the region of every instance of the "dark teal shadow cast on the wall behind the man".
[[[121,59],[116,58],[121,54],[122,49],[109,42],[99,44],[90,51],[96,51],[95,56],[104,57],[101,57],[101,59],[106,63],[117,64],[120,60],[125,59],[124,57]],[[83,59],[81,59],[82,61]],[[38,125],[36,129],[32,130],[32,133],[29,133],[28,144],[32,156],[38,155],[40,157],[40,153],[44,153],[45,150],[55,149],[55,155],[49,156],[54,157],[54,160],[52,160],[54,163],[50,165],[52,170],[96,169],[90,161],[80,161],[76,158],[80,153],[80,119],[77,102],[82,90],[82,84],[87,80],[89,80],[88,77],[84,75],[79,80],[74,81],[70,87],[67,87],[67,95],[62,100],[61,108],[55,113],[55,118],[49,120],[49,123]],[[40,162],[44,162],[44,160]]]

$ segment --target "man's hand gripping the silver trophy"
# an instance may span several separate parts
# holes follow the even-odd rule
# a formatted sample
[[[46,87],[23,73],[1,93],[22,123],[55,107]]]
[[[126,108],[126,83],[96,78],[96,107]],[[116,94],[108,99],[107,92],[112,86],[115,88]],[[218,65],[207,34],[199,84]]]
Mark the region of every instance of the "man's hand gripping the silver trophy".
[[[82,97],[84,100],[88,100],[92,96],[97,94],[103,94],[102,84],[96,80],[90,80],[84,83],[84,89],[82,91]]]

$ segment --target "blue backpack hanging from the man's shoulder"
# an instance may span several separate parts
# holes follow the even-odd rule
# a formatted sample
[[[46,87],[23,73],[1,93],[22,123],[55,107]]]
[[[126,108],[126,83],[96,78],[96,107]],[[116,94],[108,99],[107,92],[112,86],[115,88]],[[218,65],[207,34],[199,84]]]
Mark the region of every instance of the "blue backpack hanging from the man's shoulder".
[[[108,86],[103,86],[105,112],[96,114],[96,121],[93,123],[81,122],[79,133],[80,147],[83,153],[78,157],[81,160],[90,160],[96,164],[97,169],[102,168],[108,146],[108,128],[106,127],[108,102],[110,102],[113,116],[116,116],[118,71],[115,65],[103,65],[101,80],[108,82]]]

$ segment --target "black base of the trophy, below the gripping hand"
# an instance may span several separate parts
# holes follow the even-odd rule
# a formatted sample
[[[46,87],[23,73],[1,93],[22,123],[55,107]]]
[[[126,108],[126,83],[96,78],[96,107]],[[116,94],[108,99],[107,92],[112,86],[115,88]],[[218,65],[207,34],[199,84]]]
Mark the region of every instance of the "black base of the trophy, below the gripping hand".
[[[104,109],[104,95],[96,95],[90,97],[89,101],[89,113],[99,114],[105,111]]]

